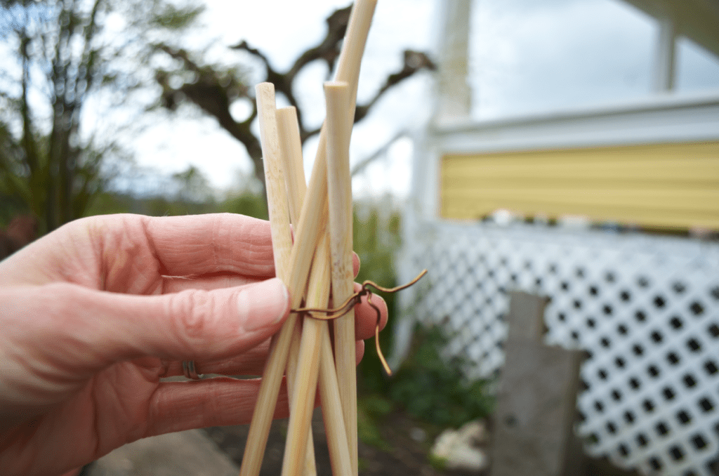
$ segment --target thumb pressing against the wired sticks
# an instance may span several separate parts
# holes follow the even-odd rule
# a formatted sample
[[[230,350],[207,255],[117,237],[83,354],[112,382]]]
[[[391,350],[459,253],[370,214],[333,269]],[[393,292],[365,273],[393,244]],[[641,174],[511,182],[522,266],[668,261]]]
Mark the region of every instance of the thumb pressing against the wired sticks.
[[[288,290],[277,278],[160,296],[62,286],[67,292],[55,297],[70,301],[73,311],[64,321],[75,324],[65,334],[87,342],[93,352],[86,355],[99,366],[147,355],[172,360],[230,357],[275,334],[290,308]]]

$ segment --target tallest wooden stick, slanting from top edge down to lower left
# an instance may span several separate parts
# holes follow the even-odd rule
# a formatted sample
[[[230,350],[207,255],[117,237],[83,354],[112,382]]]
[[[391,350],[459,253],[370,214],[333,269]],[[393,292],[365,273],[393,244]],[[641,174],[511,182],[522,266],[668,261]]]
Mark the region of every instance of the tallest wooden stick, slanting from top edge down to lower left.
[[[365,48],[365,42],[367,41],[367,34],[370,31],[370,24],[372,22],[372,15],[375,11],[377,0],[357,0],[352,8],[352,15],[349,19],[349,25],[347,27],[347,35],[344,38],[344,44],[342,45],[342,52],[339,56],[337,65],[336,78],[341,81],[347,81],[352,89],[352,101],[349,104],[352,114],[350,117],[354,117],[354,101],[357,97],[357,79],[359,78],[359,63],[362,60],[362,52]],[[296,229],[295,239],[296,246],[292,248],[290,254],[290,293],[294,288],[299,288],[304,284],[307,273],[310,267],[310,263],[313,257],[313,250],[316,247],[317,236],[321,224],[326,221],[327,215],[327,204],[326,204],[326,186],[327,186],[327,167],[326,167],[326,137],[324,132],[325,127],[323,126],[320,132],[319,147],[313,165],[312,175],[310,178],[310,185],[308,187],[308,196],[303,202],[302,211],[300,214],[300,221]],[[300,297],[298,298],[296,293],[292,293],[292,306],[296,308]],[[292,320],[292,316],[288,318],[288,321]],[[285,323],[286,324],[286,323]],[[280,330],[278,338],[275,339],[276,345],[273,347],[273,351],[278,349],[277,352],[270,352],[270,356],[267,358],[267,364],[265,372],[262,375],[262,384],[260,385],[260,391],[257,395],[257,403],[255,405],[255,413],[252,416],[252,423],[249,426],[249,434],[247,435],[247,444],[244,448],[244,457],[242,458],[242,468],[240,469],[241,476],[257,476],[260,472],[260,465],[262,464],[262,454],[265,451],[265,445],[267,444],[267,435],[270,432],[270,424],[272,423],[272,416],[277,404],[277,396],[279,392],[280,380],[282,378],[282,371],[285,367],[287,360],[287,352],[283,346],[289,346],[291,330],[286,331],[285,326]],[[280,349],[282,347],[282,349]],[[281,368],[278,368],[280,367]],[[352,373],[354,378],[357,375]],[[338,375],[339,380],[339,375]],[[357,404],[356,395],[354,397],[354,419],[349,416],[345,420],[347,423],[347,434],[350,442],[349,451],[352,456],[352,466],[355,472],[357,471]]]

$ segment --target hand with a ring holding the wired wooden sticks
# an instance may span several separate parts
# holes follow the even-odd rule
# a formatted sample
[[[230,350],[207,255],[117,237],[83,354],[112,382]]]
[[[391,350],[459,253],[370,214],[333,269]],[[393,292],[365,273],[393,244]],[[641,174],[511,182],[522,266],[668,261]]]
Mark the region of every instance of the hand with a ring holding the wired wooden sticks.
[[[231,214],[81,219],[1,261],[4,474],[61,474],[145,436],[249,423],[259,379],[160,379],[183,360],[261,375],[290,306],[274,274],[267,221]],[[375,311],[355,315],[357,339],[372,336]],[[282,390],[275,417],[287,414]]]

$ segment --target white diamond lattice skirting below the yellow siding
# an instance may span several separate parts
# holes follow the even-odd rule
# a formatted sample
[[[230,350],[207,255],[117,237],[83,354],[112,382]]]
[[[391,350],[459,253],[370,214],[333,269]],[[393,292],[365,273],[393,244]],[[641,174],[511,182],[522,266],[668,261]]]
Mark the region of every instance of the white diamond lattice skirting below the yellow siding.
[[[507,290],[551,297],[547,344],[585,349],[585,450],[645,474],[719,464],[719,244],[535,226],[427,224],[400,280],[414,319],[441,324],[470,377],[503,365]]]

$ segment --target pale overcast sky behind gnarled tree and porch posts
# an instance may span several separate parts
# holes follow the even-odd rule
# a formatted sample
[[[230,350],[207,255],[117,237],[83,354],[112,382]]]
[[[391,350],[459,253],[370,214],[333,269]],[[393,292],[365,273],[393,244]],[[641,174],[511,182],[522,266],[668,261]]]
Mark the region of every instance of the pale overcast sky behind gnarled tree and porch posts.
[[[237,57],[226,46],[247,40],[280,70],[324,37],[324,19],[347,5],[336,0],[205,1],[205,36],[191,40],[211,42],[213,59],[231,61]],[[388,73],[400,68],[402,50],[434,50],[439,1],[378,2],[362,63],[360,103]],[[471,24],[468,81],[476,119],[616,104],[651,95],[658,30],[653,19],[620,0],[475,0]],[[679,41],[677,51],[678,93],[719,91],[717,58],[686,40]],[[321,65],[308,68],[299,85],[308,104],[306,117],[315,124],[324,117],[321,85],[326,74]],[[367,157],[399,130],[421,129],[431,112],[431,91],[429,75],[420,75],[390,93],[355,127],[352,161]],[[242,106],[233,112],[241,115]],[[219,187],[232,186],[237,170],[251,170],[242,146],[213,119],[199,114],[163,122],[133,145],[142,165],[178,171],[193,164]],[[306,170],[315,147],[314,142],[306,145]],[[390,148],[385,158],[354,180],[355,194],[405,195],[411,154],[409,140]]]

